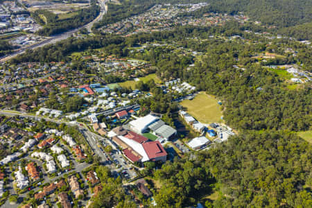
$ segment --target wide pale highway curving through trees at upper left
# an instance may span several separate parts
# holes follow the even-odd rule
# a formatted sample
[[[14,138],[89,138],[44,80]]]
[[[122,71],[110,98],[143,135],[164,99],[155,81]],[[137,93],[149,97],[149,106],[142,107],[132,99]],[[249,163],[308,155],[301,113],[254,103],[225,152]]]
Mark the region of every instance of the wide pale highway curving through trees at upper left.
[[[91,31],[91,28],[93,26],[94,23],[100,21],[103,18],[103,15],[106,14],[107,12],[107,6],[105,5],[105,3],[109,1],[109,0],[98,0],[98,3],[100,4],[101,7],[101,11],[100,14],[98,15],[98,17],[96,17],[96,19],[94,19],[93,21],[89,22],[88,24],[85,24],[84,26],[81,26],[79,28],[73,29],[71,31],[67,31],[66,33],[62,33],[60,35],[55,35],[53,37],[50,37],[47,40],[44,40],[42,42],[38,42],[37,44],[33,44],[31,46],[28,46],[24,49],[20,49],[19,51],[16,51],[15,53],[11,53],[10,55],[6,55],[3,58],[0,59],[0,62],[6,62],[8,60],[10,60],[11,58],[14,58],[17,55],[20,55],[22,53],[24,53],[27,49],[37,49],[39,47],[45,46],[47,44],[53,44],[55,42],[59,42],[60,40],[65,40],[68,37],[71,37],[71,35],[73,35],[73,33],[77,33],[80,29],[82,28],[87,28],[88,31]]]

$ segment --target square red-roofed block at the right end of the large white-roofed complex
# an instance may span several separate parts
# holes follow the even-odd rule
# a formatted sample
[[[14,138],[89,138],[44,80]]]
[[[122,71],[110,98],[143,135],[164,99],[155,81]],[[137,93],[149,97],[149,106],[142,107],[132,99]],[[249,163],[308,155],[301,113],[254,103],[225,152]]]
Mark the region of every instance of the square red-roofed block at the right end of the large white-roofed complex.
[[[166,150],[162,147],[162,144],[160,144],[159,141],[149,141],[144,144],[142,144],[144,150],[146,151],[146,154],[148,155],[148,158],[152,161],[159,161],[162,162],[166,161],[167,153]]]

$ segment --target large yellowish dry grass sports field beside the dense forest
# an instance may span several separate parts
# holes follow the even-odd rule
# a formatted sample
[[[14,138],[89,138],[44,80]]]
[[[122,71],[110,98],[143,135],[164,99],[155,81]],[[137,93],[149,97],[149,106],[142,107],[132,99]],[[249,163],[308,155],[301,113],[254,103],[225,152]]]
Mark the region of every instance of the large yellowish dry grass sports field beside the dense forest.
[[[187,108],[187,112],[201,123],[221,121],[221,107],[213,96],[200,92],[192,101],[184,100],[180,103]]]

